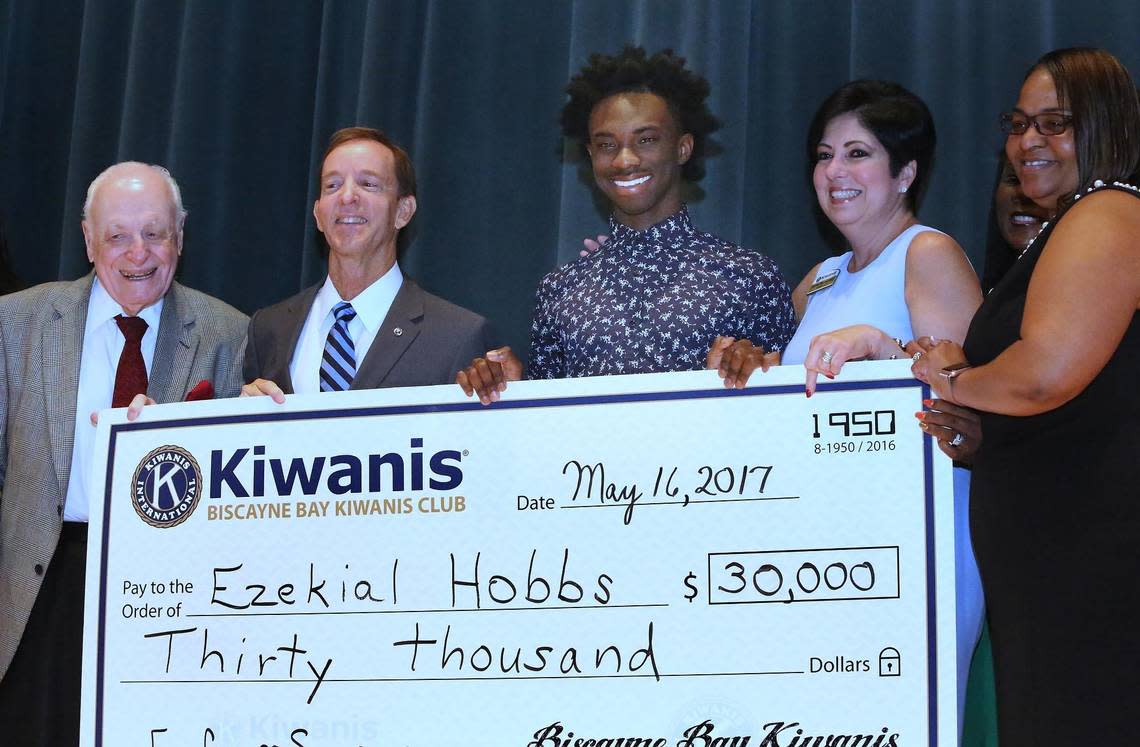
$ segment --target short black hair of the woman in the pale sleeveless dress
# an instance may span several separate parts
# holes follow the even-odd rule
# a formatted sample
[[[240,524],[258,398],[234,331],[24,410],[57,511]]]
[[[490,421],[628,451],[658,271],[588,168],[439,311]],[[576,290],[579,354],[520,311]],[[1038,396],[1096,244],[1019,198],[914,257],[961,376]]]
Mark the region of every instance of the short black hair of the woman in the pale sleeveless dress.
[[[882,144],[890,157],[890,176],[897,177],[911,161],[917,169],[906,192],[906,204],[917,210],[934,165],[937,141],[934,117],[921,98],[898,83],[879,80],[852,81],[823,100],[807,130],[808,172],[815,168],[816,147],[828,123],[853,113],[860,124]]]

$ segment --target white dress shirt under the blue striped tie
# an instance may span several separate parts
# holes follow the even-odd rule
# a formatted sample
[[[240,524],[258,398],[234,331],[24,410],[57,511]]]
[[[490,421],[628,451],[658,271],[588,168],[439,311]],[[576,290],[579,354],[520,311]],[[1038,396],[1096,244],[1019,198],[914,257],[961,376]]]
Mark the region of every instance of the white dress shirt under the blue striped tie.
[[[349,322],[349,336],[352,338],[352,347],[356,349],[357,370],[368,355],[372,341],[376,339],[376,333],[384,324],[384,317],[392,308],[392,301],[396,300],[396,294],[402,284],[404,274],[400,273],[400,266],[392,265],[390,270],[349,301],[357,312]],[[326,277],[325,284],[317,291],[317,298],[312,301],[304,326],[301,327],[301,336],[296,341],[293,359],[288,366],[293,391],[299,395],[320,391],[320,360],[325,355],[325,340],[328,339],[328,331],[333,328],[335,320],[333,307],[342,300],[332,278]]]

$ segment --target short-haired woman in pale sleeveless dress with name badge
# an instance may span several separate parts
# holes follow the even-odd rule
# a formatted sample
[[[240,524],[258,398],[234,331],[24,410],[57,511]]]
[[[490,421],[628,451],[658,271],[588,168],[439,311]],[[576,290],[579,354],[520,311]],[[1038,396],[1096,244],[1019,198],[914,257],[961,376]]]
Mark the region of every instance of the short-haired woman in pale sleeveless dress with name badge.
[[[784,350],[717,338],[708,365],[725,385],[743,387],[756,368],[804,364],[811,396],[817,375],[834,376],[848,360],[902,357],[902,342],[922,335],[966,338],[982,302],[977,275],[953,238],[914,216],[934,147],[929,109],[902,86],[853,81],[823,102],[808,130],[812,184],[849,251],[820,262],[796,286],[799,326]],[[955,470],[954,478],[961,725],[984,604],[969,542],[969,472]]]

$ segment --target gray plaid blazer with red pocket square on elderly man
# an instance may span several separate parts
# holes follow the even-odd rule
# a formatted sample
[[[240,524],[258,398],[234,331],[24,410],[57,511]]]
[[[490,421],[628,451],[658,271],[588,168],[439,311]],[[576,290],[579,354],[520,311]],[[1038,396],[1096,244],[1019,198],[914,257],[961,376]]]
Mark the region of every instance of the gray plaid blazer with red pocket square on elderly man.
[[[0,677],[59,542],[93,277],[0,298]],[[247,323],[237,309],[172,283],[147,395],[180,401],[205,379],[217,397],[236,396]]]

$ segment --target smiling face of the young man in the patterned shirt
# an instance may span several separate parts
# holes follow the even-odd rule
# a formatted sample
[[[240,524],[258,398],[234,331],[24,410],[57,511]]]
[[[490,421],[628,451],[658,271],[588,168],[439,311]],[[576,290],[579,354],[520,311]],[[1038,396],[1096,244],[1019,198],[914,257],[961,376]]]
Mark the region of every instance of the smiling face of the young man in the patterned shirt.
[[[644,230],[681,210],[681,168],[693,136],[678,130],[657,94],[617,94],[591,112],[586,151],[619,222]]]

